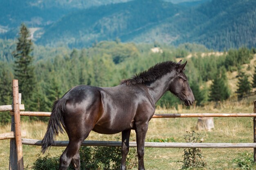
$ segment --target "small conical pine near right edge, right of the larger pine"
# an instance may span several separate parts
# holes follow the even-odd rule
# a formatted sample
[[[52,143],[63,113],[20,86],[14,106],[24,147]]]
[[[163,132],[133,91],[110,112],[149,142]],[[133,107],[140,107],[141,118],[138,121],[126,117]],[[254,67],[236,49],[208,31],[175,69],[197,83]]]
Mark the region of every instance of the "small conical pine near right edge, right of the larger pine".
[[[249,94],[252,90],[251,84],[248,80],[248,75],[244,72],[239,73],[238,89],[236,91],[238,99],[242,99],[245,94]]]

